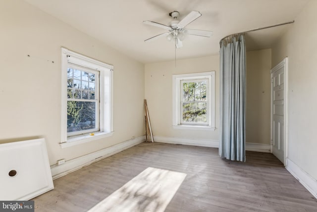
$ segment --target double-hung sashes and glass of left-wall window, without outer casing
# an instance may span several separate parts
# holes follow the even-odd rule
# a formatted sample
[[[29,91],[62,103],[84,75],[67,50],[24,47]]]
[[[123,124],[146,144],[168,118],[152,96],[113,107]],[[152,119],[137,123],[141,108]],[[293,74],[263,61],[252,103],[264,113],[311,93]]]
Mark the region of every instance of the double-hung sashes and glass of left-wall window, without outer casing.
[[[67,68],[67,135],[98,132],[99,71],[69,64]]]

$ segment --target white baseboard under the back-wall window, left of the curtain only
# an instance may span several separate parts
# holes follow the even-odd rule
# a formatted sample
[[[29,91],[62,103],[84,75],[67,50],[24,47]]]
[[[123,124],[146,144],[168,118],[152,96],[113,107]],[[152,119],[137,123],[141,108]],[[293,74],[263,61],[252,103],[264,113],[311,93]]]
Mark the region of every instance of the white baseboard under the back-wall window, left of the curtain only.
[[[181,139],[181,138],[164,137],[164,136],[154,136],[154,141],[163,142],[163,143],[192,145],[192,146],[214,147],[214,148],[218,148],[219,146],[219,141],[215,141],[215,140]]]

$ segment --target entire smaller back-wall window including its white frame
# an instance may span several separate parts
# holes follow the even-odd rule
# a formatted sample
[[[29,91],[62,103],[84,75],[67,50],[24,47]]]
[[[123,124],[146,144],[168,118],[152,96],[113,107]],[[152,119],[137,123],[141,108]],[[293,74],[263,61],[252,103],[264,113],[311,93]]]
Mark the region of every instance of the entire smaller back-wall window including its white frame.
[[[173,75],[173,127],[215,130],[214,71]]]

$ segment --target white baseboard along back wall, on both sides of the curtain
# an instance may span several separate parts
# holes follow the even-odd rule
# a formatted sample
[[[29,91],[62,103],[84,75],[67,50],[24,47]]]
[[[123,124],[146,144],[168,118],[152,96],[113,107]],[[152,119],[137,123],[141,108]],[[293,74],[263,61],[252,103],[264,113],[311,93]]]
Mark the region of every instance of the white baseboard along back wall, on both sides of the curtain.
[[[174,143],[174,144],[183,144],[183,145],[193,145],[193,146],[205,146],[205,147],[219,147],[218,140],[195,140],[195,139],[181,139],[173,137],[164,137],[164,136],[154,136],[154,141],[164,142],[164,143]],[[270,152],[271,146],[269,144],[262,143],[246,143],[247,151],[259,151],[259,152]]]

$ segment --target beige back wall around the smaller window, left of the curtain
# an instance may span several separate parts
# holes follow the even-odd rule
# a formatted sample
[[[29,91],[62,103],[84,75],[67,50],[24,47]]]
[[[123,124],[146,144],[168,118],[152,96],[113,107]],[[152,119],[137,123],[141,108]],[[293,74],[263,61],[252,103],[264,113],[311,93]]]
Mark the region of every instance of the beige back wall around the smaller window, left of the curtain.
[[[215,131],[178,130],[172,127],[172,74],[215,71]],[[219,56],[145,65],[145,98],[153,134],[196,140],[219,140]]]

